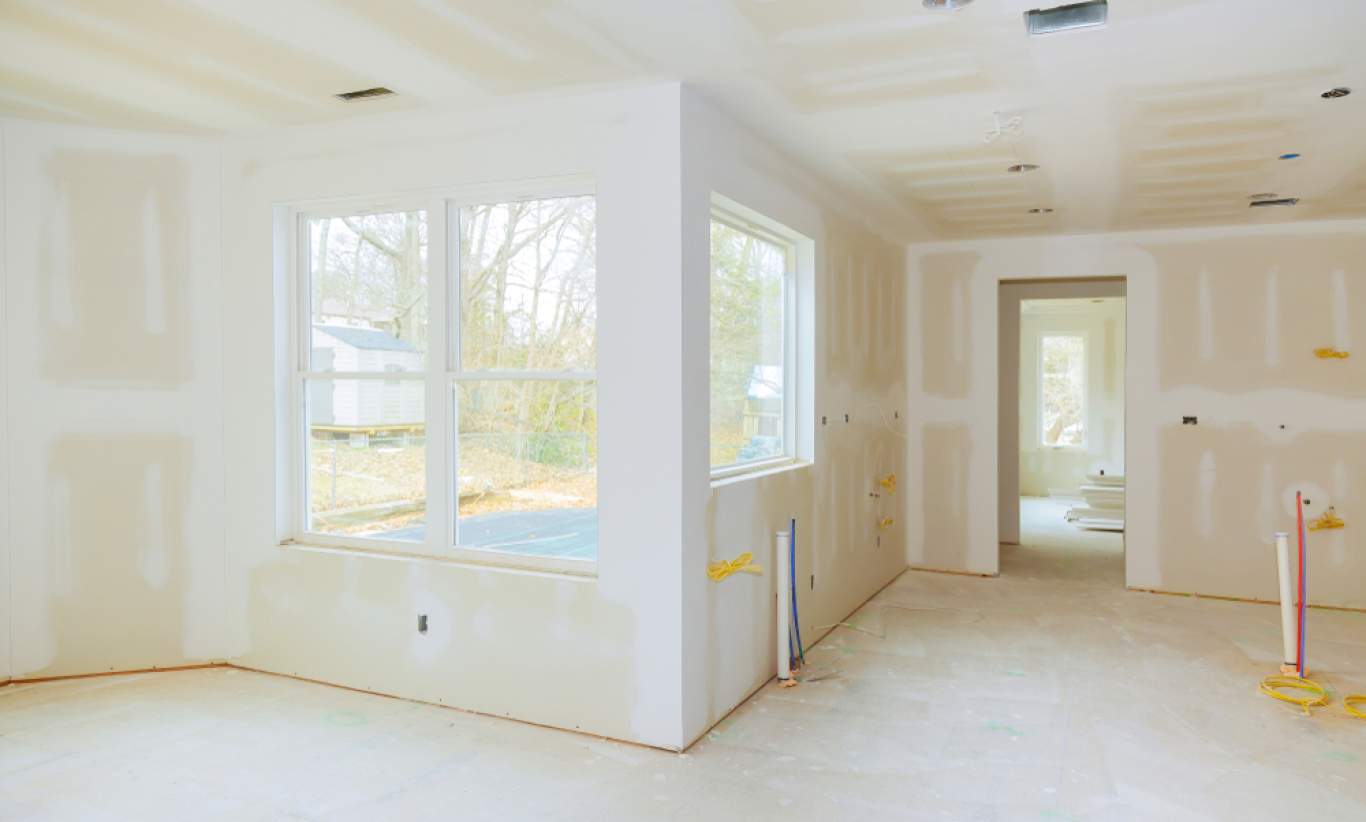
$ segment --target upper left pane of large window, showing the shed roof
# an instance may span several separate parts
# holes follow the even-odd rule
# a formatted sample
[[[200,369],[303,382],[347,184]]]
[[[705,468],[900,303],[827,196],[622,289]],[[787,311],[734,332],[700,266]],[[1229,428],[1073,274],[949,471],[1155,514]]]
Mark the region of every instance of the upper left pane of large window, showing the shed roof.
[[[313,371],[421,371],[428,340],[428,216],[309,220]]]

